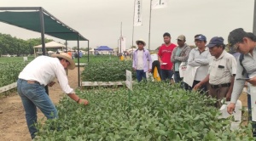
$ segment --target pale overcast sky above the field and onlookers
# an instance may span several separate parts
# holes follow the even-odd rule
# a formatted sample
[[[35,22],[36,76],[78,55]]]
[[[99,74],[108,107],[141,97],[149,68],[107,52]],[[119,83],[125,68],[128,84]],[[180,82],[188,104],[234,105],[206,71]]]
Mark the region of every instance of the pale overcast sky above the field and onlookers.
[[[134,42],[143,38],[148,43],[149,4],[150,0],[143,0],[143,25],[135,27]],[[253,0],[168,0],[167,8],[152,10],[150,48],[160,46],[164,32],[170,32],[176,44],[180,34],[185,35],[188,44],[194,44],[198,33],[204,34],[207,41],[220,36],[227,42],[230,31],[238,27],[253,31],[253,6]],[[43,7],[89,39],[90,48],[116,48],[122,22],[126,48],[132,44],[134,0],[1,0],[1,7]],[[40,37],[40,33],[1,22],[0,32],[22,39]],[[68,42],[68,46],[76,45]],[[80,47],[87,48],[87,42],[80,42]]]

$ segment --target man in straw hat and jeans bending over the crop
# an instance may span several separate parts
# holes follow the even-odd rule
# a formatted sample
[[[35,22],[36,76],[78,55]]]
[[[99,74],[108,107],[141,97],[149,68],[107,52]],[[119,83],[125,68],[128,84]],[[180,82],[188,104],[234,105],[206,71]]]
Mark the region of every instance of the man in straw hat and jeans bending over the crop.
[[[52,58],[53,57],[53,58]],[[62,91],[79,104],[89,104],[86,99],[80,99],[69,87],[65,69],[73,70],[75,64],[70,55],[66,53],[52,54],[52,57],[39,56],[33,59],[23,71],[17,81],[17,89],[26,112],[26,124],[32,138],[35,138],[37,128],[37,107],[47,119],[58,118],[55,104],[49,99],[44,87],[53,86],[55,77],[61,85]]]

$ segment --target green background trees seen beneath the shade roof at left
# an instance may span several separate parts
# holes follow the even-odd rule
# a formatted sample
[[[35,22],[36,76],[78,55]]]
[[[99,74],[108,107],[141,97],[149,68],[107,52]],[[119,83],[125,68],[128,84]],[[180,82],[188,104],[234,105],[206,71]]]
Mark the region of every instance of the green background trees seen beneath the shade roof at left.
[[[51,42],[52,39],[45,38],[45,42]],[[9,34],[0,33],[0,56],[3,54],[17,55],[34,54],[33,47],[41,44],[41,38],[31,38],[23,40],[12,37]]]

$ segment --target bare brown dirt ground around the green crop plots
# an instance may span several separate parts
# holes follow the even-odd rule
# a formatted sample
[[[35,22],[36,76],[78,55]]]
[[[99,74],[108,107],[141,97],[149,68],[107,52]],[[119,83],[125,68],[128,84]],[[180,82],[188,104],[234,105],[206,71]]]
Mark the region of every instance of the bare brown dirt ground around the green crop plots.
[[[83,71],[83,68],[80,68]],[[71,87],[78,87],[78,68],[68,71],[68,80]],[[61,87],[56,83],[49,87],[49,97],[57,104],[64,96]],[[241,94],[243,106],[247,106],[246,93]],[[38,119],[44,115],[38,110]],[[0,99],[0,140],[1,141],[30,141],[30,134],[26,127],[25,112],[21,104],[20,96],[12,93],[8,97]]]

